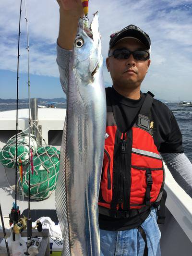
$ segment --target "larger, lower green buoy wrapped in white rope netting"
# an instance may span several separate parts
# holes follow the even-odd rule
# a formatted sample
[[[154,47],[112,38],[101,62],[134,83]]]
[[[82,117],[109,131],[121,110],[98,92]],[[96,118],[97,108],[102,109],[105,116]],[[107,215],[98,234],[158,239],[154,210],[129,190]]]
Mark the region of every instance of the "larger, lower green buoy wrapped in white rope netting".
[[[48,198],[55,190],[60,169],[60,151],[54,146],[38,147],[34,157],[34,174],[31,174],[30,197],[35,200]],[[20,190],[28,197],[28,172],[29,166],[24,173],[23,182],[20,180]]]

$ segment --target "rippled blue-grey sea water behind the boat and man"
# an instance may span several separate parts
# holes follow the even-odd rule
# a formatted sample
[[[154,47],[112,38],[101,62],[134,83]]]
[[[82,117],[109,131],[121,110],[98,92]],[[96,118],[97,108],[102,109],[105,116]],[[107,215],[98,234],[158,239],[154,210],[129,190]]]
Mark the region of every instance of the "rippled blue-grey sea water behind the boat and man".
[[[179,124],[183,136],[184,153],[192,162],[192,107],[180,107],[178,103],[165,103]],[[27,104],[20,104],[19,109],[27,108]],[[65,108],[65,105],[58,104],[58,108]],[[0,111],[15,110],[15,104],[0,104]]]

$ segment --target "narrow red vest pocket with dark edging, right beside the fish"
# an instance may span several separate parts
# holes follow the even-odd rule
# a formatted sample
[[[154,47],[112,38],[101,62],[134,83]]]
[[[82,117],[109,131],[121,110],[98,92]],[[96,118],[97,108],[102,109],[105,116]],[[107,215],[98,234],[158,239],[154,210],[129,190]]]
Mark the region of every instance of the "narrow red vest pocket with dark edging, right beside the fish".
[[[100,185],[101,194],[105,202],[110,202],[112,199],[110,162],[111,162],[110,155],[105,149],[104,158],[103,158],[101,185]]]

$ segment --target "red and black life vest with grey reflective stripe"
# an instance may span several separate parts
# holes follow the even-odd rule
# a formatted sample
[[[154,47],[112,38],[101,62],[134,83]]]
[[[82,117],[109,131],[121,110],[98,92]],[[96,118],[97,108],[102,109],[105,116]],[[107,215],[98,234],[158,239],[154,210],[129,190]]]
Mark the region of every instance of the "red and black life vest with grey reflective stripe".
[[[99,213],[116,218],[139,214],[160,203],[165,172],[150,132],[153,94],[147,93],[137,122],[121,133],[112,107],[107,111]]]

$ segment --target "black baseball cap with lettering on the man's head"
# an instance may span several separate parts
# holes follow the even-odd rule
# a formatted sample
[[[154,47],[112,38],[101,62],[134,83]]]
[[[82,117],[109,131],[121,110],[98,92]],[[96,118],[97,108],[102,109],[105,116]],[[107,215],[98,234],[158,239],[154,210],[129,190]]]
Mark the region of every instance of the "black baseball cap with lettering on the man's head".
[[[111,49],[120,39],[124,37],[133,37],[140,40],[149,50],[151,47],[150,37],[139,27],[135,25],[129,25],[124,27],[118,32],[110,35],[109,49]]]

